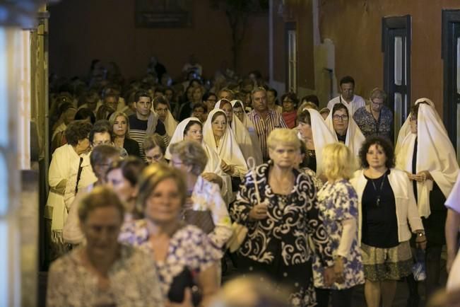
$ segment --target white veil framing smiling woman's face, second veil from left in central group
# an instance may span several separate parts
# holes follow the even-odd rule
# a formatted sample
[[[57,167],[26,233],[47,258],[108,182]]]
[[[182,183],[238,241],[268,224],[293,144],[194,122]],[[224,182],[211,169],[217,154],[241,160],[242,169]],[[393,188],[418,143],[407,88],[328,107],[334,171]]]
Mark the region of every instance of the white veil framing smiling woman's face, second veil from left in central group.
[[[203,140],[209,147],[211,147],[211,149],[216,151],[219,158],[225,161],[228,165],[235,166],[238,173],[240,175],[244,175],[247,173],[247,163],[244,160],[244,156],[240,146],[238,146],[235,135],[233,135],[233,132],[230,127],[228,127],[228,124],[225,127],[223,136],[220,138],[219,146],[216,145],[213,128],[211,127],[213,115],[216,114],[216,112],[223,112],[225,115],[225,112],[220,109],[214,109],[209,112],[208,120],[206,120],[203,126]]]

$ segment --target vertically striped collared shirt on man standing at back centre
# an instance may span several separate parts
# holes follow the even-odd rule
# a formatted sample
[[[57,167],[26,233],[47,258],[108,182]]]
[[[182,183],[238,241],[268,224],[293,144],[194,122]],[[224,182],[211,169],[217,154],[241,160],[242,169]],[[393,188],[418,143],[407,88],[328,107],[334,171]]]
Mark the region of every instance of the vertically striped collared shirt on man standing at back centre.
[[[259,137],[259,143],[262,151],[262,157],[264,161],[269,160],[269,149],[266,144],[266,140],[269,137],[270,132],[276,128],[288,128],[288,125],[284,122],[283,117],[280,113],[269,110],[269,116],[264,120],[259,113],[252,110],[247,114],[249,120],[256,128],[257,137]]]

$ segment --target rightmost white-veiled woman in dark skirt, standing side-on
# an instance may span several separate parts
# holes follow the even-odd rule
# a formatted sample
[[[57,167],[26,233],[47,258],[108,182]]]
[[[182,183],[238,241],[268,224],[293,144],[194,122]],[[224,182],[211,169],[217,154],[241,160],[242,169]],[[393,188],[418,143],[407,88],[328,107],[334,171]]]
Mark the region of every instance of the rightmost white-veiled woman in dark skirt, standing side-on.
[[[454,146],[430,99],[416,100],[403,124],[396,144],[396,167],[405,170],[413,182],[418,212],[426,231],[425,285],[429,295],[440,278],[440,257],[445,243],[443,226],[447,215],[444,202],[459,173]]]

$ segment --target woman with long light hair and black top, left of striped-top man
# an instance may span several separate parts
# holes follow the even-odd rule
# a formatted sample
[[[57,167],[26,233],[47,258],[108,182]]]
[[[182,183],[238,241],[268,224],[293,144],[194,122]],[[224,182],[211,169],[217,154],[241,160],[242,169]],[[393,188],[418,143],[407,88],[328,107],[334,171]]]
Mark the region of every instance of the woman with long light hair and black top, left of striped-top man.
[[[114,145],[118,148],[124,148],[129,156],[141,157],[139,144],[134,139],[129,138],[129,120],[124,112],[114,112],[110,116],[110,124],[114,132]]]

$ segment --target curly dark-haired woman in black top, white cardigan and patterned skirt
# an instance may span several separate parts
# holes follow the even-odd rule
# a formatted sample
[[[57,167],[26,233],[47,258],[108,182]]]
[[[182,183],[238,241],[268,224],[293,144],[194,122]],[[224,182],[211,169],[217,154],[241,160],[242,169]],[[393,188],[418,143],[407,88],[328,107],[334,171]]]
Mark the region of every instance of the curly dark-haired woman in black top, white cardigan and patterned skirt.
[[[411,182],[394,168],[393,147],[383,137],[370,137],[360,150],[362,170],[351,180],[360,199],[358,239],[365,273],[368,307],[391,306],[396,282],[411,274],[411,231],[418,247],[426,238]],[[411,226],[411,229],[409,229]]]

